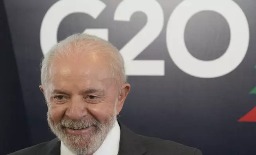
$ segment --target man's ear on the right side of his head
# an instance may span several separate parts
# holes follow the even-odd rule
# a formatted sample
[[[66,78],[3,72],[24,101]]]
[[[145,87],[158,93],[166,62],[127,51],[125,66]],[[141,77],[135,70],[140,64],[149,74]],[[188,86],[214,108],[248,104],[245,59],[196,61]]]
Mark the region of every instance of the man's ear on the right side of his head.
[[[124,100],[126,99],[128,93],[130,92],[131,85],[129,83],[125,83],[122,86],[120,95],[118,96],[118,102],[116,104],[116,115],[119,115],[120,111],[124,106]]]

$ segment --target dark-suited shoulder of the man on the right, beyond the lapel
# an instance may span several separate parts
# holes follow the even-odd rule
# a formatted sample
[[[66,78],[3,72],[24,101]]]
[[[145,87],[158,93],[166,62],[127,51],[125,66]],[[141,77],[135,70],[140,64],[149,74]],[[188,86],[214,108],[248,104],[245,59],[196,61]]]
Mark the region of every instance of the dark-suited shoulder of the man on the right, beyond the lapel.
[[[147,137],[142,135],[138,136],[142,140],[144,147],[146,147],[147,151],[150,153],[160,151],[161,153],[170,155],[202,155],[202,152],[199,149],[184,146],[171,140],[163,140],[160,138]]]

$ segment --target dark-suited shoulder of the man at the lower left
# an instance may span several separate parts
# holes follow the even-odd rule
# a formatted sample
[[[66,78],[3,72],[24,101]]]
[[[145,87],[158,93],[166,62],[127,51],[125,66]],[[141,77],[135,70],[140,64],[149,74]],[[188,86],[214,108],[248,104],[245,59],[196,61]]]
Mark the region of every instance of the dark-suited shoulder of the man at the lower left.
[[[35,146],[27,147],[25,149],[21,149],[9,155],[36,155],[40,150],[42,150],[49,142],[43,142],[37,144]]]

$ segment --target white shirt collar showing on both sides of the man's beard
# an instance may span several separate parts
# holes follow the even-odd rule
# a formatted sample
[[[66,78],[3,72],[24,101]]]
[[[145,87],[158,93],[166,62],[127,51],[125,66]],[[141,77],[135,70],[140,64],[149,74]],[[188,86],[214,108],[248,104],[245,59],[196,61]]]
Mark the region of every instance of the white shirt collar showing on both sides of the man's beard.
[[[114,127],[93,155],[117,155],[119,151],[120,127],[116,121]],[[60,155],[75,155],[64,144],[60,143]]]

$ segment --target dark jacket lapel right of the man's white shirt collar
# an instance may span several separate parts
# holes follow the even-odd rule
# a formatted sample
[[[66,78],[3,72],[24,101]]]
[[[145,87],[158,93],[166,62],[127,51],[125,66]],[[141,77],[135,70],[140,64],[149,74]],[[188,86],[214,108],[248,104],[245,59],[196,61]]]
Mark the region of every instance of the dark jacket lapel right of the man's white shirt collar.
[[[140,137],[120,121],[118,123],[121,130],[118,155],[143,155],[147,150],[143,146]]]

